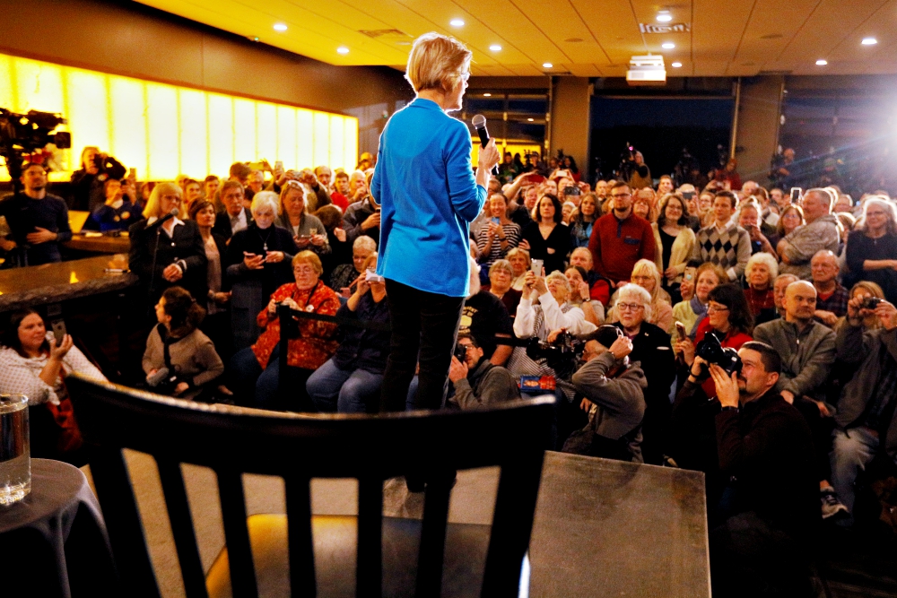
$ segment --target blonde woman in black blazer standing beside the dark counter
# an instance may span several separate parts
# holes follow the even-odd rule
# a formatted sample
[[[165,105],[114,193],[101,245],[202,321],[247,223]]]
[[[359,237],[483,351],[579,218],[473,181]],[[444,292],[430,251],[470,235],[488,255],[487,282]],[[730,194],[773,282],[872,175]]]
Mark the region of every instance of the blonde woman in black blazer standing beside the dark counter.
[[[185,220],[173,216],[158,223],[179,207],[180,196],[180,187],[174,183],[156,185],[144,208],[145,220],[129,229],[128,267],[140,277],[148,306],[155,305],[162,291],[173,285],[189,290],[194,299],[205,298],[208,291],[205,243],[196,222],[179,214]],[[148,316],[155,322],[155,314]]]

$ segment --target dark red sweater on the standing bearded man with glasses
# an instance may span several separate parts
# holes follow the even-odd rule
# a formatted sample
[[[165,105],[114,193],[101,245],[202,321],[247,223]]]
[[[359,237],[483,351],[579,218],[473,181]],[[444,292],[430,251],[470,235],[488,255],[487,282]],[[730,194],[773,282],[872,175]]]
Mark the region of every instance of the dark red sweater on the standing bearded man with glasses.
[[[636,262],[654,261],[654,230],[649,221],[633,213],[624,221],[605,214],[592,227],[588,249],[595,272],[613,282],[628,281]]]

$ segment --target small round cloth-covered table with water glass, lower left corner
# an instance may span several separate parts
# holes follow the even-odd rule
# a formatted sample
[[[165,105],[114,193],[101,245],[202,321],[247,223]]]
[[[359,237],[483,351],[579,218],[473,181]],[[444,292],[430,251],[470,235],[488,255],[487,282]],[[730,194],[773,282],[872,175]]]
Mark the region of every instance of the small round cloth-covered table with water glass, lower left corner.
[[[31,459],[30,494],[0,507],[0,546],[0,594],[119,594],[100,505],[70,464]]]

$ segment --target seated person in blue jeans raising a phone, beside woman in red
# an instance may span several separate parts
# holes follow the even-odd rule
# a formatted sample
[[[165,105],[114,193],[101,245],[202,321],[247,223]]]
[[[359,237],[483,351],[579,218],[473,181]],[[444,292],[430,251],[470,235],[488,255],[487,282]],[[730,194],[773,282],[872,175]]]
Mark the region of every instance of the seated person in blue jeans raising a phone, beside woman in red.
[[[363,269],[369,268],[377,268],[377,256],[365,260]],[[389,325],[386,298],[387,288],[382,281],[366,281],[361,274],[355,282],[355,292],[336,316]],[[311,401],[319,412],[377,412],[389,354],[389,332],[349,326],[343,332],[335,355],[309,377],[306,388]]]

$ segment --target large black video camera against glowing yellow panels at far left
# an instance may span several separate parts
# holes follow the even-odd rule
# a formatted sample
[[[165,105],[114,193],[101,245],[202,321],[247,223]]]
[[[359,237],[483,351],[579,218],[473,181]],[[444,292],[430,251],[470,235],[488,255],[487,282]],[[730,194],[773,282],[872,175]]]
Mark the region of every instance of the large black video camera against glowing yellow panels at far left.
[[[25,156],[53,144],[59,150],[72,147],[72,134],[56,131],[66,124],[65,118],[51,112],[30,110],[28,114],[16,114],[0,108],[0,156],[6,160],[6,169],[13,178],[13,188],[20,191],[22,161]]]

